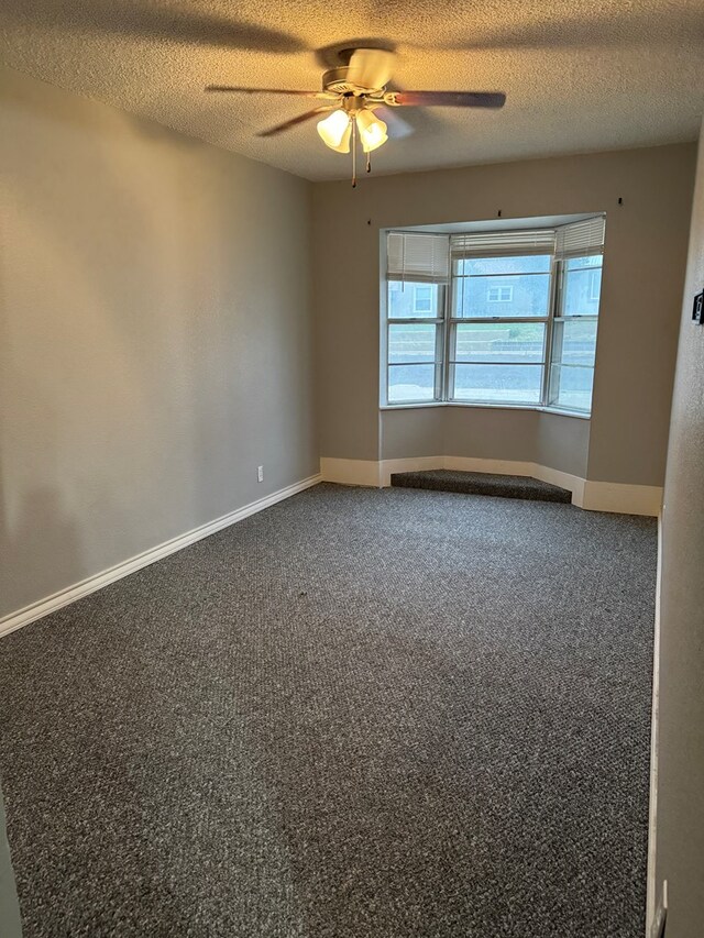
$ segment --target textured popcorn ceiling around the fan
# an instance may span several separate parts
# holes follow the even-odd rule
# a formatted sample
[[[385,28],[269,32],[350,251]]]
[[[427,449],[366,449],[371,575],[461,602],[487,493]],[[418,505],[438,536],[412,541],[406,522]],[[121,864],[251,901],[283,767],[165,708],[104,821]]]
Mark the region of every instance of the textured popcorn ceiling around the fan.
[[[403,89],[503,90],[503,111],[404,109],[375,173],[694,140],[704,0],[3,0],[9,66],[309,179],[345,178],[310,107],[208,82],[318,89],[331,48],[397,51]]]

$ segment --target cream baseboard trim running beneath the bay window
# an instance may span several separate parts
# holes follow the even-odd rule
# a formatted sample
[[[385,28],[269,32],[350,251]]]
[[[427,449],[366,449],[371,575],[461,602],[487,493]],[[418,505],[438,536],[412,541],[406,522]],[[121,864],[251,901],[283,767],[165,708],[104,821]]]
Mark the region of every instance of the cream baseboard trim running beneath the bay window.
[[[514,460],[483,460],[471,456],[415,456],[403,460],[320,460],[324,482],[341,485],[365,485],[375,488],[391,485],[392,473],[420,472],[431,468],[487,472],[496,475],[527,475],[559,485],[572,493],[572,504],[588,511],[612,511],[617,515],[658,517],[662,488],[654,485],[625,485],[614,482],[593,482],[539,463]]]

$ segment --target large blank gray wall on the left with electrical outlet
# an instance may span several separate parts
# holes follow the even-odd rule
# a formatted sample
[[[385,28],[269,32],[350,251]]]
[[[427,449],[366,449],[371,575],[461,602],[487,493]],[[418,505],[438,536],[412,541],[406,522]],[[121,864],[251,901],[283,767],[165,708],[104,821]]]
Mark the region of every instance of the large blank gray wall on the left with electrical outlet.
[[[1,616],[316,473],[318,440],[310,184],[0,79]]]

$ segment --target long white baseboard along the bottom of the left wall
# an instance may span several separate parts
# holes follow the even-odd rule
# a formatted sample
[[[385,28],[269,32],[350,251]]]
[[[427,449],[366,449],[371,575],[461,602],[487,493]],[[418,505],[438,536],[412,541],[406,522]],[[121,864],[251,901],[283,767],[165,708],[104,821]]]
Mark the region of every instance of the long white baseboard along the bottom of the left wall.
[[[164,541],[164,543],[157,544],[155,548],[151,548],[143,553],[136,554],[136,556],[130,558],[130,560],[118,563],[109,570],[103,570],[101,573],[89,576],[80,583],[76,583],[66,589],[54,593],[45,599],[32,603],[31,606],[25,606],[16,613],[10,613],[9,616],[4,616],[0,619],[0,637],[8,634],[9,632],[13,632],[15,629],[20,629],[22,626],[26,626],[36,619],[41,619],[50,613],[55,613],[56,609],[61,609],[62,606],[67,606],[69,603],[74,603],[82,596],[88,596],[90,593],[95,593],[97,589],[107,586],[109,583],[122,580],[123,576],[129,576],[131,573],[141,570],[143,566],[148,566],[157,560],[162,560],[169,554],[176,553],[176,551],[183,550],[189,544],[194,544],[196,541],[207,538],[209,534],[215,534],[216,531],[229,528],[231,525],[235,525],[238,521],[249,518],[250,515],[256,515],[257,511],[263,511],[265,508],[276,505],[277,501],[283,501],[285,498],[290,498],[292,495],[296,495],[298,492],[302,492],[306,488],[318,485],[321,481],[322,478],[320,475],[311,475],[308,478],[294,483],[293,485],[287,485],[285,488],[279,488],[278,492],[273,492],[264,498],[251,501],[249,505],[238,508],[234,511],[230,511],[228,515],[222,515],[220,518],[216,518],[215,521],[208,521],[205,525],[200,525],[198,528],[194,528],[185,534],[179,534],[176,538],[172,538],[169,541]]]

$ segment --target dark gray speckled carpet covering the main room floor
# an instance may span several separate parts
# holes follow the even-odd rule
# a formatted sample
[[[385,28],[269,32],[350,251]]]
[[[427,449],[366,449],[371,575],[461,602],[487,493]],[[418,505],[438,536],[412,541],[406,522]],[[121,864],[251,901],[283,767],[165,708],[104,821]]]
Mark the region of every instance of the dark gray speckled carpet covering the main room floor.
[[[0,640],[25,938],[641,938],[654,572],[320,485]]]

